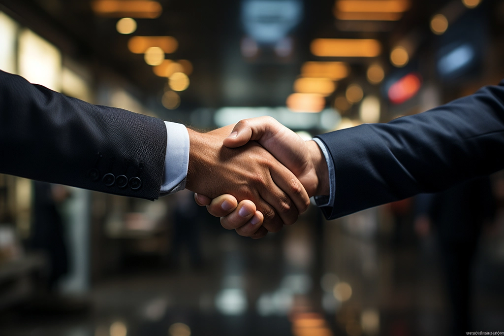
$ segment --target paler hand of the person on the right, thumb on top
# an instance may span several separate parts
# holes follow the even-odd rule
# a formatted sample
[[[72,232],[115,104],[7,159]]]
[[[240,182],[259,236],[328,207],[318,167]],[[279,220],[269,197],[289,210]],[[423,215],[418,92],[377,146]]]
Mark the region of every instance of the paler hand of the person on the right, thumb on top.
[[[261,117],[237,123],[233,132],[224,140],[224,145],[237,147],[250,140],[259,142],[290,169],[304,185],[309,196],[329,195],[327,162],[316,142],[305,142],[275,119]],[[221,207],[223,204],[237,204],[231,195],[222,195],[212,200],[205,195],[195,194],[195,199],[198,204],[206,205],[212,215],[222,216],[221,223],[224,222],[228,228],[239,231],[248,224],[247,218],[237,214],[241,205]]]

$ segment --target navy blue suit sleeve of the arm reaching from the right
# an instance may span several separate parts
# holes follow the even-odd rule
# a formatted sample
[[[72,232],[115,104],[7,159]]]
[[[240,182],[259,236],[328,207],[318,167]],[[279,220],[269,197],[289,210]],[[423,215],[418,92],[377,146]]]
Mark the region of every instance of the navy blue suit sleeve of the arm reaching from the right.
[[[504,81],[388,124],[319,135],[335,167],[338,218],[504,168]]]

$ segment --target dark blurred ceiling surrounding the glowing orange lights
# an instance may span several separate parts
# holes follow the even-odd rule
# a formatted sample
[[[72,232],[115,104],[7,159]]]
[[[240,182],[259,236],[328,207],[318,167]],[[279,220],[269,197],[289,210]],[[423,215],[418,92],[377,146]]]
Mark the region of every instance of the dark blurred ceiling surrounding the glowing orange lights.
[[[178,49],[167,58],[193,63],[191,85],[182,92],[181,108],[187,110],[285,105],[305,61],[347,61],[352,67],[351,76],[365,78],[368,59],[318,58],[310,52],[311,41],[377,39],[383,46],[377,59],[390,66],[390,49],[408,34],[416,34],[415,40],[421,43],[422,35],[430,32],[432,15],[448,3],[412,0],[398,21],[348,21],[335,18],[334,0],[158,2],[161,15],[136,19],[138,29],[132,35],[169,35],[178,40]],[[160,101],[166,79],[153,73],[143,54],[128,50],[132,35],[116,31],[119,18],[95,15],[90,0],[0,0],[0,4],[72,59],[95,69],[111,69],[138,88],[144,99]],[[268,40],[268,34],[276,34],[277,38]],[[244,39],[247,36],[253,36],[254,41]],[[247,50],[251,50],[252,57],[244,57]]]

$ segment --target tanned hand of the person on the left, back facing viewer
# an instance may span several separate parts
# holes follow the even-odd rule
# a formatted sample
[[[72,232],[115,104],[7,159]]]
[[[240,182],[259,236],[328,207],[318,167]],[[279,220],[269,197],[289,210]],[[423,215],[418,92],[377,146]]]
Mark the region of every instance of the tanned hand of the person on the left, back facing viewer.
[[[256,142],[240,148],[222,146],[231,127],[208,133],[188,130],[190,152],[186,188],[212,198],[232,194],[239,201],[251,200],[253,207],[246,202],[248,206],[241,214],[248,220],[257,206],[265,218],[261,231],[277,232],[284,224],[294,223],[309,205],[302,184]]]

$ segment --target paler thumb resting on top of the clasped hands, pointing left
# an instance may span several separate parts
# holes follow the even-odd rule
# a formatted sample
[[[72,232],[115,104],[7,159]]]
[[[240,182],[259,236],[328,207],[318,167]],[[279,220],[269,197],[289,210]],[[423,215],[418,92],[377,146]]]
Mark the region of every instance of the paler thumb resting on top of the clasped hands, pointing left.
[[[271,117],[259,117],[239,121],[231,134],[224,139],[224,146],[236,148],[243,146],[248,141],[268,139],[274,136],[282,125]]]

